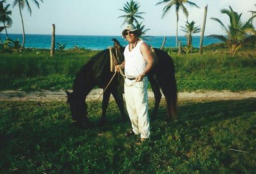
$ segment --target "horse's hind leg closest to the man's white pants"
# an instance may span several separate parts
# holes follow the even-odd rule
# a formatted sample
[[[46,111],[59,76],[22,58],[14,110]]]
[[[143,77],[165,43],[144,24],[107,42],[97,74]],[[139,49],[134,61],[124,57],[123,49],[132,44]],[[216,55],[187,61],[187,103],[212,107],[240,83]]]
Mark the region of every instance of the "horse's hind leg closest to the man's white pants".
[[[156,119],[157,110],[159,108],[159,103],[161,101],[162,94],[161,94],[159,85],[156,82],[156,79],[154,77],[148,77],[148,80],[150,82],[151,89],[154,92],[154,97],[155,97],[155,105],[150,115],[150,119],[154,120]]]

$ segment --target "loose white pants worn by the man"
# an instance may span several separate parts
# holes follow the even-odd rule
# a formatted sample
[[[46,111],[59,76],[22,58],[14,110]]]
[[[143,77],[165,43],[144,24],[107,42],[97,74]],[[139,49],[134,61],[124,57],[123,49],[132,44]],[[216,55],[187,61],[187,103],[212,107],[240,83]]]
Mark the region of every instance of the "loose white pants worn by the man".
[[[132,131],[140,134],[141,138],[149,138],[150,127],[148,117],[148,78],[142,82],[135,82],[125,78],[124,92],[127,112],[129,114]]]

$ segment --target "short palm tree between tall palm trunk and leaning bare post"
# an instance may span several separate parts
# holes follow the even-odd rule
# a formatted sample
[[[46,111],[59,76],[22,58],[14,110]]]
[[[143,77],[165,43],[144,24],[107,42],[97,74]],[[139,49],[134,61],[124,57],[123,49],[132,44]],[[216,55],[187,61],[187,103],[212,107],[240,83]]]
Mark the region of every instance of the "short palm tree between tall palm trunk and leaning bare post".
[[[199,33],[201,31],[200,26],[196,26],[195,27],[195,22],[186,22],[185,27],[181,27],[182,29],[180,29],[181,31],[184,31],[186,34],[186,38],[187,38],[187,47],[193,47],[192,45],[192,34],[194,33]]]

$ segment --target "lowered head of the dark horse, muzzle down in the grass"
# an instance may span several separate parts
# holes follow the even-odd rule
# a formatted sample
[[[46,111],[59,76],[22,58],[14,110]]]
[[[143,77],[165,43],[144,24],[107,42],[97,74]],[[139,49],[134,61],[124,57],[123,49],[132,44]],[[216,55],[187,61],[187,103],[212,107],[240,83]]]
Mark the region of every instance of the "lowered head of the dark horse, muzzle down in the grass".
[[[67,103],[70,105],[72,122],[86,123],[87,120],[87,106],[81,96],[77,96],[74,92],[68,92]]]

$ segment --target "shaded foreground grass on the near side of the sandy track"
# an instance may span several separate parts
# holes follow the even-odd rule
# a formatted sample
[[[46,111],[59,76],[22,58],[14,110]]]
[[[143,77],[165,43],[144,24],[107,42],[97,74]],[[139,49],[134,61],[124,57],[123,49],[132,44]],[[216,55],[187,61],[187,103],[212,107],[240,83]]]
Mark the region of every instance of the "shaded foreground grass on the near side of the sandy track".
[[[88,103],[94,126],[81,129],[63,102],[1,101],[0,173],[255,173],[255,106],[182,101],[179,117],[166,122],[161,103],[151,140],[138,144],[113,102],[103,127],[100,103]]]

